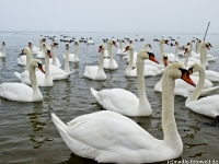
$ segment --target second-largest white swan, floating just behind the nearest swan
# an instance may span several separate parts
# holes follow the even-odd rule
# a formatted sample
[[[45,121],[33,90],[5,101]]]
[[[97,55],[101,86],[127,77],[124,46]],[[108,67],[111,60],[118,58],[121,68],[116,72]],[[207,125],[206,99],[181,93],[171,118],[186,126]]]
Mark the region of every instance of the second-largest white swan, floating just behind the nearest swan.
[[[146,95],[145,86],[145,59],[154,61],[153,54],[143,49],[137,57],[138,95],[123,89],[102,90],[100,92],[91,87],[91,93],[105,109],[127,116],[150,116],[152,113]]]

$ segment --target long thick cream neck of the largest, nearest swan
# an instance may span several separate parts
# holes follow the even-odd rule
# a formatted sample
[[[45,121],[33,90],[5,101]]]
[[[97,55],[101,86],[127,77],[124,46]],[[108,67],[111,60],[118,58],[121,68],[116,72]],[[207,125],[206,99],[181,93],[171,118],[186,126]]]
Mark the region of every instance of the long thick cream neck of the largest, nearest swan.
[[[175,142],[181,142],[174,117],[174,87],[175,80],[164,72],[162,79],[162,128],[164,133],[164,142],[175,147]]]

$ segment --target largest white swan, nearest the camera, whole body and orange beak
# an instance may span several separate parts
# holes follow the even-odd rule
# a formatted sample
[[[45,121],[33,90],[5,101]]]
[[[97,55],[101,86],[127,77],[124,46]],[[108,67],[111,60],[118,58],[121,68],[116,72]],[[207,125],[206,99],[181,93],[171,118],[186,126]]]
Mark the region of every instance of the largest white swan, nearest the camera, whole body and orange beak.
[[[114,112],[83,115],[68,125],[55,114],[51,120],[68,148],[82,157],[102,163],[152,163],[175,159],[183,152],[174,118],[174,80],[180,78],[194,85],[182,65],[166,67],[162,93],[164,140],[158,140],[131,119]]]

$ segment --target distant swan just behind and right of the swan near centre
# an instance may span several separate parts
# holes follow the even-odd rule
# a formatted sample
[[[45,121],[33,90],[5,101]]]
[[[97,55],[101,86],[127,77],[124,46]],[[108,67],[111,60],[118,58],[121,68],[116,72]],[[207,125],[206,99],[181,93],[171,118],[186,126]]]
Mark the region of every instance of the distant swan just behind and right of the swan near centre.
[[[107,50],[108,50],[108,54],[110,54],[110,59],[105,58],[103,60],[103,68],[107,69],[107,70],[116,70],[118,68],[118,65],[117,65],[116,60],[113,59],[113,52],[112,52],[113,45],[115,47],[117,47],[116,46],[116,42],[113,40],[113,39],[110,39],[107,42]]]

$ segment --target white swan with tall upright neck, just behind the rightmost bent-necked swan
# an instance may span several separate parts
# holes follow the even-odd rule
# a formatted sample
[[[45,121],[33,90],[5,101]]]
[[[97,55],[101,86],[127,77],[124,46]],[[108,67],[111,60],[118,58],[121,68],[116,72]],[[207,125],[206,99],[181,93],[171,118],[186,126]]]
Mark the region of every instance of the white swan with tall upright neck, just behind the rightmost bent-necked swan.
[[[206,55],[207,55],[207,48],[209,48],[208,43],[201,43],[200,44],[200,63],[203,65],[205,69],[205,77],[211,82],[219,82],[219,72],[212,71],[212,70],[206,70]],[[199,75],[197,72],[194,73],[194,75]]]

